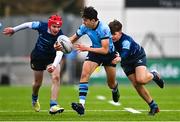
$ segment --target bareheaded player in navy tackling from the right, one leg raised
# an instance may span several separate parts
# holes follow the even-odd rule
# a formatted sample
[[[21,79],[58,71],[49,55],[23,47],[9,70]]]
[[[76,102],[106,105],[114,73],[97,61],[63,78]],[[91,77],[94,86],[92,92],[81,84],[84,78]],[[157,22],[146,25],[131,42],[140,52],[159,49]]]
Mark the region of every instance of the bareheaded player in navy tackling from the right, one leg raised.
[[[122,32],[122,24],[114,20],[109,23],[112,33],[112,39],[116,51],[120,57],[116,57],[113,63],[121,62],[128,79],[132,82],[138,94],[146,101],[150,107],[149,115],[155,115],[159,112],[158,105],[150,96],[148,90],[144,87],[151,80],[160,87],[164,87],[164,81],[157,71],[149,72],[146,67],[146,54],[142,46],[137,44],[130,36]]]

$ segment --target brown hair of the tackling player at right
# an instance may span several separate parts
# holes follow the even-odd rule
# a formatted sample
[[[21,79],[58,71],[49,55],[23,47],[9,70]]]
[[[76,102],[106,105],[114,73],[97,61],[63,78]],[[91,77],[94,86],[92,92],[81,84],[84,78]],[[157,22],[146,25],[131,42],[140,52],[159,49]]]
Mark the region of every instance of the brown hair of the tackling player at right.
[[[122,24],[118,20],[113,20],[109,23],[109,28],[111,30],[111,34],[115,34],[115,32],[122,30]]]

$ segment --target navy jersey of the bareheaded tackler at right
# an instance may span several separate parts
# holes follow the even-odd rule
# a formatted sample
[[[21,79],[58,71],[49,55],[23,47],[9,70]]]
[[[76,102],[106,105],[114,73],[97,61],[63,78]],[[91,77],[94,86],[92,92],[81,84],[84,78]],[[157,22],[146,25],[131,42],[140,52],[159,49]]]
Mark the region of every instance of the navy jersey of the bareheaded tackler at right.
[[[121,38],[114,42],[115,50],[121,56],[121,64],[130,64],[145,56],[143,47],[136,43],[130,36],[122,33]]]

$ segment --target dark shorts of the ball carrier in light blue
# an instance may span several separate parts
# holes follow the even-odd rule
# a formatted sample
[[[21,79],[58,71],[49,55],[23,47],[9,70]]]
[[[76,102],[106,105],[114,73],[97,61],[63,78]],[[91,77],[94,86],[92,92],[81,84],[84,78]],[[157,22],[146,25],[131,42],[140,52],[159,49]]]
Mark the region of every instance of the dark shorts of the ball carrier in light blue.
[[[112,60],[116,57],[116,52],[108,53],[106,55],[89,52],[86,60],[96,62],[99,66],[112,66],[116,67],[116,64],[112,64]]]

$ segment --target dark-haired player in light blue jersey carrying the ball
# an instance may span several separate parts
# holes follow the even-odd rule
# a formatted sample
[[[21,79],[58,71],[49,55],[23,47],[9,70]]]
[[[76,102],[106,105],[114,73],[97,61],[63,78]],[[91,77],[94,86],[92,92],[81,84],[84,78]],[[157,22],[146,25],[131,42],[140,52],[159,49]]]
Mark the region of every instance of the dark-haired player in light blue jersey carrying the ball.
[[[70,37],[72,43],[81,36],[87,34],[91,39],[92,46],[87,47],[83,44],[77,44],[79,51],[88,51],[86,60],[83,63],[82,73],[79,83],[79,103],[72,103],[72,108],[80,115],[85,112],[85,100],[88,92],[88,81],[95,69],[103,65],[107,74],[107,83],[112,89],[114,102],[119,100],[118,83],[116,82],[116,68],[112,60],[116,57],[115,48],[111,38],[111,32],[107,24],[104,24],[97,18],[97,11],[93,7],[85,7],[82,12],[83,24],[79,27],[76,34]],[[61,45],[55,45],[57,50]]]

